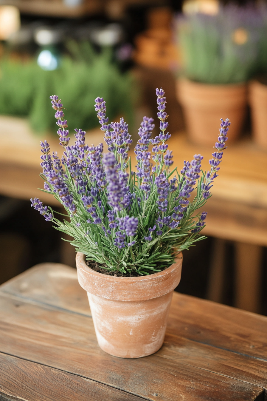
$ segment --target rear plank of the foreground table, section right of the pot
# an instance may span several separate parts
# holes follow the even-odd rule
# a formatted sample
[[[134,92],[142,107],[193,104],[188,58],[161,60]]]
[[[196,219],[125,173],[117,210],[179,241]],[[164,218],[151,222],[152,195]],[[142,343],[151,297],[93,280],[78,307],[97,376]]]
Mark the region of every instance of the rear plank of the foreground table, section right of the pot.
[[[167,333],[267,360],[267,317],[174,294]]]

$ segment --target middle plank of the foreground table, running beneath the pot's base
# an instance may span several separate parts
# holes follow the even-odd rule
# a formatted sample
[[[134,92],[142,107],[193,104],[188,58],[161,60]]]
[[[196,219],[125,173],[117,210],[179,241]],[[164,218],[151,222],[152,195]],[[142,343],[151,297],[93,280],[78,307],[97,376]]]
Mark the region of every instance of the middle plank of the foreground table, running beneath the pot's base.
[[[140,359],[112,357],[97,346],[90,317],[30,304],[7,294],[0,296],[0,338],[2,352],[147,399],[253,400],[262,393],[263,386],[251,384],[248,373],[247,381],[242,381],[242,375],[241,380],[227,377],[223,364],[220,374],[216,374],[210,371],[212,368],[194,367],[193,363],[157,354]],[[234,358],[230,352],[229,356]],[[249,365],[250,358],[242,358],[243,367]]]

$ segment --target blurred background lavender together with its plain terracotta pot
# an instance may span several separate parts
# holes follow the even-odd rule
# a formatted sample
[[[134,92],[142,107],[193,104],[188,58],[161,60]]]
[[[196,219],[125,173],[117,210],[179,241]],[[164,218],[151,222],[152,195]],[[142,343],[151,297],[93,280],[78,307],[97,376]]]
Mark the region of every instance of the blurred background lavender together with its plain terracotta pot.
[[[257,68],[262,24],[260,10],[251,5],[221,5],[216,15],[177,18],[183,58],[177,97],[192,142],[212,145],[222,114],[231,119],[231,140],[241,133],[247,81]]]

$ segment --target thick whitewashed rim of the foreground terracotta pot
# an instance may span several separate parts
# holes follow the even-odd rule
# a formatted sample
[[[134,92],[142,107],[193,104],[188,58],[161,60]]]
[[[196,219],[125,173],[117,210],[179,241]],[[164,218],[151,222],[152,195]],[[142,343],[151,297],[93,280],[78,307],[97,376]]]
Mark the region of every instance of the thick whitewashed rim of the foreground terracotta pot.
[[[183,254],[167,269],[139,277],[116,277],[94,271],[77,252],[76,265],[80,286],[96,296],[112,300],[141,301],[163,296],[174,290],[181,279]]]

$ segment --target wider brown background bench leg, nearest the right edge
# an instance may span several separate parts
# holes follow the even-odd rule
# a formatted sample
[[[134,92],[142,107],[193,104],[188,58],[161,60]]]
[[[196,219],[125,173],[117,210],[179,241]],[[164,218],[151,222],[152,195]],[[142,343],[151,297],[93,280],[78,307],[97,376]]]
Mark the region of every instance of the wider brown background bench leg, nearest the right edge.
[[[259,245],[235,243],[235,306],[249,312],[260,312],[262,251]]]

